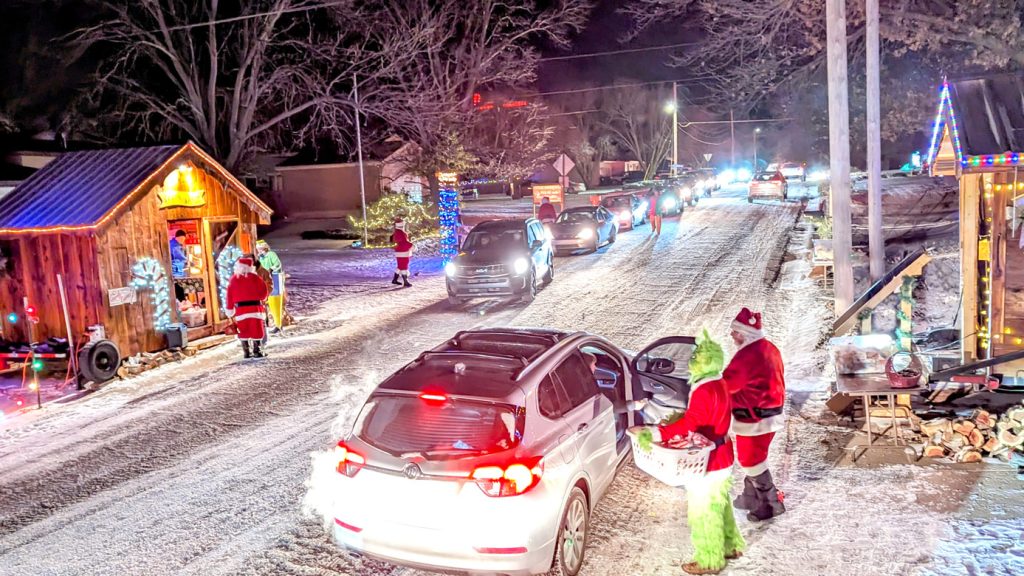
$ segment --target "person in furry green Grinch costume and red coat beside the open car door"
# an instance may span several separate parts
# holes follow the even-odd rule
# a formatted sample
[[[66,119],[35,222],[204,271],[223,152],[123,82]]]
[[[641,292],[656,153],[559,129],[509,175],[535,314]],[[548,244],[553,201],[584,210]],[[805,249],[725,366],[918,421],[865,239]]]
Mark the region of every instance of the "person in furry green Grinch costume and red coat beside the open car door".
[[[718,574],[729,560],[743,554],[746,543],[736,527],[729,489],[732,487],[732,402],[722,368],[725,353],[708,331],[697,338],[690,358],[690,399],[686,413],[673,423],[646,428],[642,438],[662,442],[688,433],[703,436],[715,444],[708,459],[707,474],[686,485],[686,520],[693,541],[693,561],[683,565],[687,574]],[[641,443],[643,440],[641,440]]]

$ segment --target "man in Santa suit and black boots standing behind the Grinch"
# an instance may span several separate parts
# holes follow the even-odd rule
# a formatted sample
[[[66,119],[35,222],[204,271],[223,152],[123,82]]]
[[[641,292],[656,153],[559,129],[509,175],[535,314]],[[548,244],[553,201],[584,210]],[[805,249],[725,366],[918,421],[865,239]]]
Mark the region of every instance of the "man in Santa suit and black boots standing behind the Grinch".
[[[760,313],[744,307],[731,328],[732,340],[739,349],[722,378],[732,398],[736,459],[746,475],[743,492],[733,504],[749,510],[750,520],[768,520],[785,511],[782,494],[768,471],[768,447],[785,423],[782,356],[765,339]]]

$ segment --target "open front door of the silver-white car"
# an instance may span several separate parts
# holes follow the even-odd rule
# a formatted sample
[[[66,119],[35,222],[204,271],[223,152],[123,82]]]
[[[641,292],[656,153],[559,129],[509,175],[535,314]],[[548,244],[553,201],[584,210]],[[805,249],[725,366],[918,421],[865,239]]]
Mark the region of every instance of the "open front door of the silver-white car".
[[[693,336],[668,336],[633,357],[630,369],[634,382],[639,382],[639,386],[634,384],[633,398],[648,400],[642,423],[656,424],[686,410],[690,396],[689,363],[696,346]]]

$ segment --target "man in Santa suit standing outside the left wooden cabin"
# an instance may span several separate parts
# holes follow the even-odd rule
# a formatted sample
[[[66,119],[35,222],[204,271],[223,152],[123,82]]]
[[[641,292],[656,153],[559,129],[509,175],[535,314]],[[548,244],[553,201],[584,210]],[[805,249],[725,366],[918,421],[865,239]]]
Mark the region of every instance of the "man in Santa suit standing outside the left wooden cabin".
[[[227,317],[238,326],[239,340],[246,358],[263,358],[263,337],[266,335],[266,308],[263,301],[269,292],[266,282],[256,274],[253,258],[239,258],[234,275],[227,282]]]

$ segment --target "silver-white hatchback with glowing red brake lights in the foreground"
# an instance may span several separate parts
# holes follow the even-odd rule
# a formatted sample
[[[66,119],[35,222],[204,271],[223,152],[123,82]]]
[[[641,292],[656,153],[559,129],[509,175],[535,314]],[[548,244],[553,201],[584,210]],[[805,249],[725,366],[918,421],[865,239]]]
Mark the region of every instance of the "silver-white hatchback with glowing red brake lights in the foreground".
[[[338,444],[335,541],[427,570],[577,574],[630,450],[635,370],[583,332],[474,330],[423,353]]]

